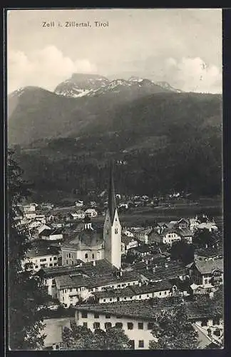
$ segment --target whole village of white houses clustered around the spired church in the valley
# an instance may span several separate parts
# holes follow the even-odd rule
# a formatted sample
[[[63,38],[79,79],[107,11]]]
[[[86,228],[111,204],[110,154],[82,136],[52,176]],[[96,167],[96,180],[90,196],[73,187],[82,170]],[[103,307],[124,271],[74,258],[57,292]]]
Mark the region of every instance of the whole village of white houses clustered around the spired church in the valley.
[[[168,201],[179,196],[173,193]],[[14,206],[16,225],[26,227],[32,245],[22,266],[46,286],[48,317],[66,310],[77,326],[123,327],[132,348],[142,350],[153,340],[155,313],[183,301],[200,348],[222,345],[221,228],[206,212],[152,225],[120,223],[121,212],[157,201],[170,204],[162,197],[126,200],[116,194],[111,171],[108,192],[88,204],[80,199],[64,208]],[[201,298],[207,301],[202,307]],[[65,349],[61,337],[51,340],[46,348]]]

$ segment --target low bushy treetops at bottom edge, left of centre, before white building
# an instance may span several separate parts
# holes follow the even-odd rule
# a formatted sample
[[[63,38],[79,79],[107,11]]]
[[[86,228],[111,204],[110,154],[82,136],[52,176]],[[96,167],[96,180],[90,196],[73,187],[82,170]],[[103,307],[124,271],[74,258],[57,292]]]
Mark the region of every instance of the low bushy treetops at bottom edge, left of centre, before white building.
[[[68,350],[126,350],[130,349],[128,336],[120,328],[110,327],[106,331],[96,328],[93,332],[85,326],[63,328],[64,348]]]

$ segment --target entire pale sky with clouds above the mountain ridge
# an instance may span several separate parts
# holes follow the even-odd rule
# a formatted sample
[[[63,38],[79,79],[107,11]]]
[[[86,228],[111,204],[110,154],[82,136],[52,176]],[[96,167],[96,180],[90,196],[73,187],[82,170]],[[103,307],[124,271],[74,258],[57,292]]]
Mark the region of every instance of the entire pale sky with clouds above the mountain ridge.
[[[183,91],[222,93],[222,10],[8,11],[9,93],[24,86],[53,91],[73,73],[140,76]]]

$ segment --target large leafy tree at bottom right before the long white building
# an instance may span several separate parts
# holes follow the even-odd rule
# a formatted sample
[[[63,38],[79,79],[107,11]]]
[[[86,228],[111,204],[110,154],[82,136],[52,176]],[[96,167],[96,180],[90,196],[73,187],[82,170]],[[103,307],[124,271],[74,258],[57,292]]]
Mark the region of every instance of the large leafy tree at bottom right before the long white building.
[[[198,346],[197,332],[188,322],[183,304],[161,311],[152,333],[155,341],[150,341],[150,349],[195,349]]]

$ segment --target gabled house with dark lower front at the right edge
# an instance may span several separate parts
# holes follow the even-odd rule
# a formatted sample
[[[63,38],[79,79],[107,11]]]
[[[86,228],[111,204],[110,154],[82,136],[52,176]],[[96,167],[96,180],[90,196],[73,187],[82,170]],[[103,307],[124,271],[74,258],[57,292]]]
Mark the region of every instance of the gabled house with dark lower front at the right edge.
[[[195,261],[188,269],[193,282],[199,286],[213,287],[223,283],[223,259]]]

